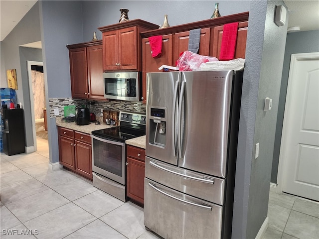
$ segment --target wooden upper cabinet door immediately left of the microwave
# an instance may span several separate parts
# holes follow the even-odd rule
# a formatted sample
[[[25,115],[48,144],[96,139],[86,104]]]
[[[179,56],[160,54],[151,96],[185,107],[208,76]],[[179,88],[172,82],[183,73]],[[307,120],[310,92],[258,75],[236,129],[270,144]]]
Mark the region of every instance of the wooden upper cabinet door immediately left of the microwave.
[[[87,47],[88,84],[90,99],[105,100],[102,44]]]

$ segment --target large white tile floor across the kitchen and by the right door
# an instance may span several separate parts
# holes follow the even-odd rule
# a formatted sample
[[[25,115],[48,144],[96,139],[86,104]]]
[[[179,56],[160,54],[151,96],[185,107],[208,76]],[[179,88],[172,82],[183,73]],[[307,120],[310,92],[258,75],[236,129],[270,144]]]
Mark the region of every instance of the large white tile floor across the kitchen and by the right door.
[[[143,208],[68,170],[50,171],[47,140],[37,145],[34,153],[0,155],[1,239],[158,239],[145,230]],[[268,216],[265,239],[319,239],[316,202],[271,192]]]

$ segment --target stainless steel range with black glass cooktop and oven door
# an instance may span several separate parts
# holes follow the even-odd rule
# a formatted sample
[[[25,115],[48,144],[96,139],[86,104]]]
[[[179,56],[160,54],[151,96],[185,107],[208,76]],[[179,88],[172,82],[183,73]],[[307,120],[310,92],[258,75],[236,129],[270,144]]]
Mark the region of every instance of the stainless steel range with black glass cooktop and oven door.
[[[92,131],[93,186],[126,202],[125,140],[145,135],[146,116],[120,112],[120,125]]]

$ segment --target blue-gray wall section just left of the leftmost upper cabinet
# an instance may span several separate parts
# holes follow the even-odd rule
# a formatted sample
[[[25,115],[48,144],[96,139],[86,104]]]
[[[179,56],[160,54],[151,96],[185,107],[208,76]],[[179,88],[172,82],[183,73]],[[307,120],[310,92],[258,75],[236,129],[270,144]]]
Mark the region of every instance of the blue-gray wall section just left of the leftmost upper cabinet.
[[[41,1],[39,5],[45,91],[48,98],[71,97],[66,45],[83,42],[81,1]],[[50,162],[59,162],[55,118],[48,118],[48,138]]]

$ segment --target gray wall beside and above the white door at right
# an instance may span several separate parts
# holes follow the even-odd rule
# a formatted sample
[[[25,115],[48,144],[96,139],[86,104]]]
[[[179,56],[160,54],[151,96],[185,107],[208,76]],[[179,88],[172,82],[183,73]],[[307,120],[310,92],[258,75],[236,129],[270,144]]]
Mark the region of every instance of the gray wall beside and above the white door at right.
[[[281,134],[283,130],[291,54],[308,52],[319,52],[319,30],[301,31],[287,34],[283,74],[280,87],[273,167],[271,172],[272,183],[277,183]]]

